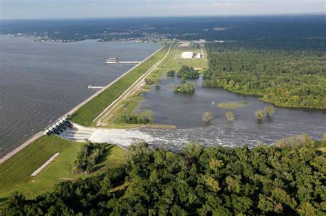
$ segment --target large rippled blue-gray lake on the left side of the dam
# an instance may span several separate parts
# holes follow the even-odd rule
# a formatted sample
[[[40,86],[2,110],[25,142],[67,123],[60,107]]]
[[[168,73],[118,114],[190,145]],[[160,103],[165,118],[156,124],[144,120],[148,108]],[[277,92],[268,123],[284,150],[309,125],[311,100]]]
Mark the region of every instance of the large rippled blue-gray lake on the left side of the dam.
[[[138,43],[39,43],[0,36],[0,157],[61,117],[160,46]]]

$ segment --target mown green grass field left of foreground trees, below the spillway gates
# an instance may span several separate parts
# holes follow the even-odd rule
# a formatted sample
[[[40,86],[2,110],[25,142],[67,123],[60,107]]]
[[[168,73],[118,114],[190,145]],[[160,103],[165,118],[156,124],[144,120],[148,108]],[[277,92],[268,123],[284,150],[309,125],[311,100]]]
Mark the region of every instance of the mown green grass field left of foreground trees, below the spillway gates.
[[[108,145],[105,154],[96,165],[97,171],[91,175],[72,175],[72,164],[78,150],[84,143],[75,143],[57,136],[42,136],[19,153],[0,165],[0,202],[13,191],[19,191],[26,197],[35,197],[51,191],[55,184],[65,180],[76,180],[94,175],[105,167],[116,167],[125,163],[126,151],[116,145]],[[58,157],[47,165],[37,176],[30,174],[41,167],[54,153]]]

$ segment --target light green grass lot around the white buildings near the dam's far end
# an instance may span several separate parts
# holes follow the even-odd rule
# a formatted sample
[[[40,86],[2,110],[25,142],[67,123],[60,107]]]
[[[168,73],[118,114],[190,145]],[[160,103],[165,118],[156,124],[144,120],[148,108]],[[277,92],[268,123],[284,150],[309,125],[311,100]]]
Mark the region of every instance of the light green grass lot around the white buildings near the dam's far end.
[[[201,59],[182,59],[181,54],[184,51],[192,51],[193,53],[202,53],[204,54],[204,58]],[[188,67],[194,67],[199,70],[199,72],[203,71],[204,68],[208,68],[208,60],[207,60],[207,52],[206,49],[193,48],[193,47],[175,47],[173,46],[169,56],[159,65],[160,69],[166,70],[179,70],[180,67],[186,65]]]

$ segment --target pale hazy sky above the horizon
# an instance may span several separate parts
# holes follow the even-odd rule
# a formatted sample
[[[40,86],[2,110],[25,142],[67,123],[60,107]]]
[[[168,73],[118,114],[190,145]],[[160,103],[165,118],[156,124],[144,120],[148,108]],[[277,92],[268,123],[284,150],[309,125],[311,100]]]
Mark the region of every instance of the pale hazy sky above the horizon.
[[[325,0],[0,0],[0,19],[315,14]]]

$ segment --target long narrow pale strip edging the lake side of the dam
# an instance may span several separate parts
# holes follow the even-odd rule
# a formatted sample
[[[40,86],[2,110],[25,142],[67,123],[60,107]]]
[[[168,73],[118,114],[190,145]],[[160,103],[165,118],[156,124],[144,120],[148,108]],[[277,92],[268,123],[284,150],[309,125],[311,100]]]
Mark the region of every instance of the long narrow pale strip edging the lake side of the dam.
[[[160,51],[161,49],[163,49],[165,46],[166,45],[163,45],[162,47],[160,47],[160,49],[157,49],[157,51],[151,53],[151,55],[147,56],[144,60],[142,60],[142,62],[145,62],[146,60],[148,60],[149,58],[151,58],[151,56],[155,55],[155,53],[157,53],[158,51]],[[142,62],[140,62],[140,64],[142,64]],[[77,106],[75,106],[74,108],[72,108],[72,110],[69,110],[68,112],[65,112],[64,115],[62,115],[61,117],[59,117],[55,121],[58,121],[59,119],[67,118],[68,115],[72,115],[79,108],[81,108],[82,106],[84,106],[85,104],[87,104],[89,101],[91,101],[91,99],[94,99],[94,97],[97,97],[100,93],[102,93],[107,88],[109,88],[109,86],[111,86],[112,84],[118,82],[118,80],[120,80],[122,77],[124,77],[124,75],[127,75],[129,72],[133,71],[133,69],[135,69],[136,67],[138,67],[140,64],[136,64],[134,67],[132,67],[128,71],[122,73],[122,75],[120,75],[118,78],[116,78],[116,80],[113,80],[112,82],[110,82],[109,84],[107,84],[104,88],[101,88],[99,91],[96,91],[96,93],[94,93],[93,95],[91,95],[90,97],[88,97],[87,99],[85,99],[84,101],[82,101],[80,104],[78,104]],[[47,128],[47,127],[49,127],[49,125],[45,126],[45,128]],[[19,151],[21,151],[21,149],[23,149],[26,146],[30,145],[30,143],[33,143],[37,139],[41,138],[41,136],[44,136],[43,130],[41,132],[38,132],[38,133],[34,134],[30,139],[28,139],[27,141],[25,141],[23,144],[15,147],[14,149],[12,149],[12,151],[8,152],[3,157],[1,157],[0,158],[0,165],[2,163],[4,163],[6,160],[8,160],[9,158],[11,158],[12,156],[14,156],[15,154],[17,154]]]

